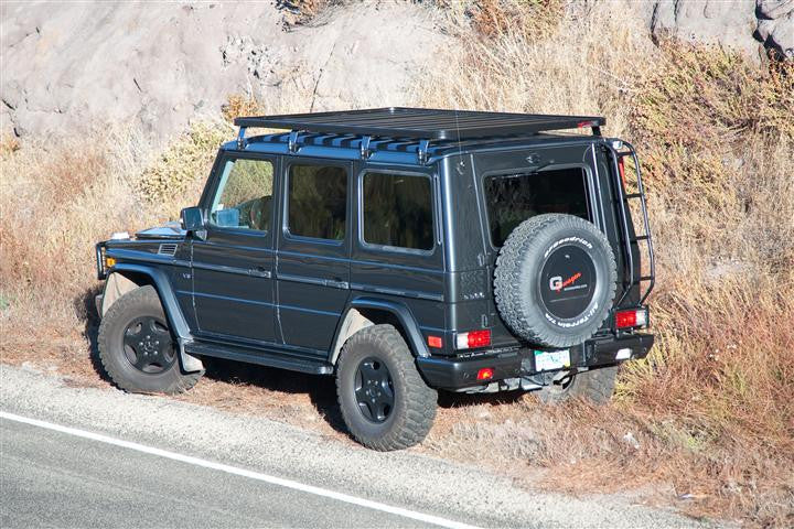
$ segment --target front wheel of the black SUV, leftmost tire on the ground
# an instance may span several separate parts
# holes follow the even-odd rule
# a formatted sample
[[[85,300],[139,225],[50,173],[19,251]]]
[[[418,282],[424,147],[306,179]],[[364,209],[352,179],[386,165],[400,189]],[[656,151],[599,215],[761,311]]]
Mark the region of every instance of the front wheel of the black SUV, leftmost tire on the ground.
[[[98,342],[103,367],[127,391],[179,393],[202,376],[181,373],[179,347],[151,285],[127,292],[110,305]]]

